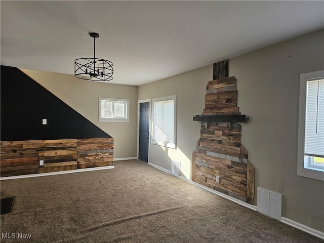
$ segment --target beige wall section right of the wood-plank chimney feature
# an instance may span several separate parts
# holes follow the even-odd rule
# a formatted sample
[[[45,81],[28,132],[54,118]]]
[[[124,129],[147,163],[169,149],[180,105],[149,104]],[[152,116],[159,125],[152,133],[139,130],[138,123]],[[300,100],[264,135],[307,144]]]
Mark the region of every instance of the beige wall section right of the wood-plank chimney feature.
[[[242,144],[256,185],[282,193],[282,216],[324,232],[324,182],[297,176],[299,74],[324,69],[317,31],[230,60],[238,106],[250,116]],[[256,203],[256,202],[255,202]]]

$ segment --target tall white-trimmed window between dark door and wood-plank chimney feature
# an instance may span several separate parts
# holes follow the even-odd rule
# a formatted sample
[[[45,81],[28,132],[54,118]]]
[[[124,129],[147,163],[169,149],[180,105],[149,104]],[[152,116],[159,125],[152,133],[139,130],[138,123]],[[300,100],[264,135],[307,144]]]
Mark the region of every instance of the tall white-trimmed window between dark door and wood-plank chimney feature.
[[[152,144],[176,148],[176,96],[153,99]]]

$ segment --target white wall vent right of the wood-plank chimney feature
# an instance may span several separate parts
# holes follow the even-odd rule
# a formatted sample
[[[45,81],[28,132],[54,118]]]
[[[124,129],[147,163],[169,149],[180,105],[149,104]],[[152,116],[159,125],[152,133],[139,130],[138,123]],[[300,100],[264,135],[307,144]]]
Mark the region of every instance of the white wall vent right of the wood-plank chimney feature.
[[[271,218],[281,218],[281,197],[282,195],[258,187],[258,211]]]

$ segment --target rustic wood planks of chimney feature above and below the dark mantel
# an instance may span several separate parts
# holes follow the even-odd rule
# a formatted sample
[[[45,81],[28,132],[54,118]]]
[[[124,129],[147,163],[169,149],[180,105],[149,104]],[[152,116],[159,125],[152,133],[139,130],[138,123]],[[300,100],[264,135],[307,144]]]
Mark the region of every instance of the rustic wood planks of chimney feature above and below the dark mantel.
[[[207,84],[203,115],[240,115],[234,76]],[[230,122],[201,122],[200,139],[192,155],[192,180],[253,204],[254,167],[241,144],[241,126]],[[220,177],[219,183],[216,176]]]

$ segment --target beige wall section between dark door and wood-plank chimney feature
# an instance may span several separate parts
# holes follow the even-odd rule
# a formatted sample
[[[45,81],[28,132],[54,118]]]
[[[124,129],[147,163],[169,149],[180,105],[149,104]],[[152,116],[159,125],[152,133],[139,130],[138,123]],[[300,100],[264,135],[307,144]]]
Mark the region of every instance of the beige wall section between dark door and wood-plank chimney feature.
[[[200,137],[200,122],[192,117],[203,112],[207,82],[213,79],[208,66],[138,87],[138,99],[177,95],[177,149],[151,144],[149,162],[171,170],[171,160],[180,161],[181,176],[191,179],[191,154]]]

